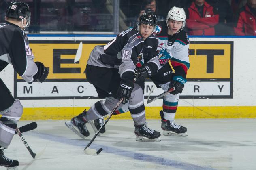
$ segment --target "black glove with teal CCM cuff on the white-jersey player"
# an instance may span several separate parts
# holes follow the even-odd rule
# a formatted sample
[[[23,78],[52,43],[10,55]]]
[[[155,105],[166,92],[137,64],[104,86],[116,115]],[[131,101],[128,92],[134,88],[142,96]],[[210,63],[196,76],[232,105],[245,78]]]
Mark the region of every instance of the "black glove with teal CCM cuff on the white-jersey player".
[[[170,92],[170,93],[173,94],[173,95],[182,93],[182,90],[184,88],[184,84],[186,82],[187,82],[187,80],[185,78],[183,78],[181,76],[174,76],[173,80],[171,81],[171,83],[169,85],[169,89],[174,87],[175,90]]]

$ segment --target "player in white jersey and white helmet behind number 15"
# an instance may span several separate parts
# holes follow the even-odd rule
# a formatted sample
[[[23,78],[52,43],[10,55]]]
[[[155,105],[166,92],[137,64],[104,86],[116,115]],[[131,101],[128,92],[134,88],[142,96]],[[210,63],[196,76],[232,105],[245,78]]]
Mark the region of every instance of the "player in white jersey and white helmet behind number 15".
[[[158,88],[165,92],[175,87],[175,90],[163,98],[163,110],[160,111],[163,134],[166,136],[188,136],[187,128],[176,124],[174,121],[177,111],[179,95],[186,83],[186,74],[190,67],[188,59],[189,39],[183,30],[186,14],[183,8],[173,7],[169,10],[166,21],[158,21],[155,33],[159,38],[158,59],[160,69],[156,75],[149,76]],[[173,66],[174,71],[172,70]],[[127,105],[115,111],[121,114],[128,111]],[[104,123],[103,117],[94,121],[97,129]],[[101,133],[105,132],[105,128]]]

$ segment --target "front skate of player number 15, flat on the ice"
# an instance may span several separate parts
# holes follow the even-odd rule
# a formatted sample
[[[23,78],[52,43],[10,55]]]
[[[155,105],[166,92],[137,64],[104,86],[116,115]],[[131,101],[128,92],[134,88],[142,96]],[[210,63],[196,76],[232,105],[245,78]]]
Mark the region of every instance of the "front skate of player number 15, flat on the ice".
[[[136,141],[141,142],[158,142],[161,141],[160,132],[152,130],[147,127],[147,123],[143,125],[135,125],[134,133],[136,134]]]

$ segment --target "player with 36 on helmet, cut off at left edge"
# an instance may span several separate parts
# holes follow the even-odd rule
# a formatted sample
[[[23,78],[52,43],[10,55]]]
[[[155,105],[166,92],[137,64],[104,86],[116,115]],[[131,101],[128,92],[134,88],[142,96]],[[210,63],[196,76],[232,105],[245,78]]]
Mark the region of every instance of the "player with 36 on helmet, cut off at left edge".
[[[24,29],[30,24],[30,9],[25,2],[11,2],[6,11],[6,22],[0,23],[0,71],[8,64],[28,83],[43,82],[48,71],[41,62],[34,62],[34,55],[29,47]],[[4,155],[21,118],[23,107],[14,99],[11,92],[0,78],[0,165],[15,167],[17,160]]]

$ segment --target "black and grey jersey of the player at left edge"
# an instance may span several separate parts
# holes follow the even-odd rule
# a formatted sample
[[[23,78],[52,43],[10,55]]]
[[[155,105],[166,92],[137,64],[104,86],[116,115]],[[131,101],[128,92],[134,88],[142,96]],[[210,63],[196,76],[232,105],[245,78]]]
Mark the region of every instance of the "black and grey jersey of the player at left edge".
[[[12,64],[19,76],[33,82],[38,69],[25,32],[12,23],[0,23],[0,37],[0,71]]]

